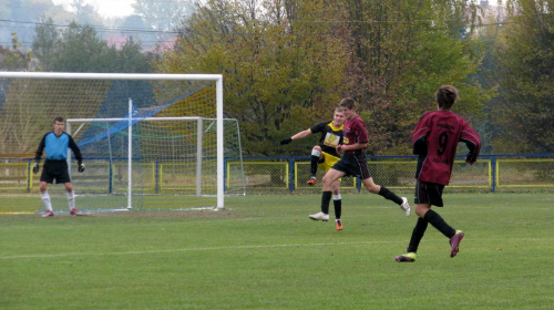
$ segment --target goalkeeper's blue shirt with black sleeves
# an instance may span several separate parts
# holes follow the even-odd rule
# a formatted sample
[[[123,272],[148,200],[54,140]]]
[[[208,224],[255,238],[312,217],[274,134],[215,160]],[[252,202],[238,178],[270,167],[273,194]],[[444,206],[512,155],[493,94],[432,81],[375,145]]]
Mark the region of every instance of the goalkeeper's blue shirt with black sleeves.
[[[42,156],[42,152],[45,152],[48,161],[65,161],[68,159],[68,148],[73,151],[78,163],[81,164],[83,162],[81,149],[76,146],[73,137],[66,133],[62,133],[60,136],[57,136],[54,132],[50,132],[47,133],[40,141],[34,159],[39,162]]]

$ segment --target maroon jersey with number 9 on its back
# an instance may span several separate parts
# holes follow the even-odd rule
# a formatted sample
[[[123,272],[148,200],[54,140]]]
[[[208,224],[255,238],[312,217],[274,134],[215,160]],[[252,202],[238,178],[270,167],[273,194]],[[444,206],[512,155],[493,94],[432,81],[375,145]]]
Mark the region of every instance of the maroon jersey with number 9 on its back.
[[[448,185],[459,142],[468,145],[470,152],[466,161],[474,163],[479,156],[481,140],[462,116],[451,111],[423,114],[412,134],[413,154],[419,155],[416,178]]]

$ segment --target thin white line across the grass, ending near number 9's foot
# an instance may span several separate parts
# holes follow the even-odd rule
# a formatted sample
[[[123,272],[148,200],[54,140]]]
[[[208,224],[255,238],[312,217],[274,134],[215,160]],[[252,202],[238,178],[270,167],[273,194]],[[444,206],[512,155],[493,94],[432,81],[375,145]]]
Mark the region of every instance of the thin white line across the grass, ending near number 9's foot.
[[[59,257],[84,257],[84,256],[112,256],[112,255],[147,255],[163,252],[187,252],[187,251],[217,251],[236,249],[264,249],[264,248],[295,248],[295,247],[328,247],[328,246],[351,246],[351,245],[371,245],[371,244],[396,244],[398,241],[359,241],[359,242],[318,242],[318,244],[290,244],[290,245],[261,245],[261,246],[232,246],[232,247],[206,247],[191,249],[168,249],[168,250],[144,250],[144,251],[116,251],[116,252],[68,252],[52,255],[14,255],[0,256],[0,259],[21,259],[21,258],[59,258]]]

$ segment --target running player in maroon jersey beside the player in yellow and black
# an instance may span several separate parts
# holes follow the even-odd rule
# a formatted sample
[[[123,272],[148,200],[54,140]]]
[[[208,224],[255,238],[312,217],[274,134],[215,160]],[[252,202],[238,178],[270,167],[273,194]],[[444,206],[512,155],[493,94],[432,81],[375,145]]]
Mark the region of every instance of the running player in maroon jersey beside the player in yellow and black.
[[[398,197],[384,186],[373,183],[373,178],[369,173],[368,161],[365,153],[366,147],[368,146],[369,137],[363,120],[356,114],[356,102],[350,97],[346,97],[340,101],[340,106],[342,107],[342,113],[345,114],[347,121],[342,130],[343,144],[339,144],[337,146],[337,153],[345,154],[340,161],[324,176],[321,209],[329,209],[329,203],[332,195],[332,184],[340,177],[351,175],[359,177],[363,186],[370,193],[379,194],[384,198],[394,202],[406,213],[406,216],[410,216],[410,205],[408,204],[408,199],[406,197]],[[309,216],[309,218],[314,220],[324,220],[322,217],[322,213]]]

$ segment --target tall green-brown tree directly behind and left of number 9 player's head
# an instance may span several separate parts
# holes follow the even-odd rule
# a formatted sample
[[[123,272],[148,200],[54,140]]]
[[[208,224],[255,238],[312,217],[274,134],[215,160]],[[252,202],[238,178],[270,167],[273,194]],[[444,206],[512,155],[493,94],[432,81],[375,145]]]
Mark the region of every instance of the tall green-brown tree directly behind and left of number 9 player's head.
[[[441,84],[461,91],[460,113],[479,112],[492,95],[471,80],[482,55],[471,37],[476,8],[466,2],[341,1],[353,55],[348,84],[370,154],[411,154],[411,131]]]

